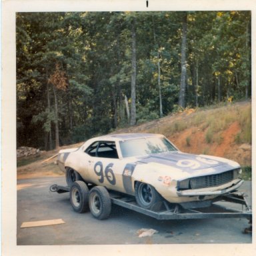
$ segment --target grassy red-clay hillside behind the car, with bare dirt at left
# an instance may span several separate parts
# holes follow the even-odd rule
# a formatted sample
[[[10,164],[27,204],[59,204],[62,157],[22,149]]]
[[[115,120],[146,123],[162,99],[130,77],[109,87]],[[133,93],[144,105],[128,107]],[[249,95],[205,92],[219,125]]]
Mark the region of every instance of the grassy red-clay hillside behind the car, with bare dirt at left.
[[[208,109],[186,109],[115,133],[161,133],[181,151],[226,157],[251,166],[251,102],[243,101]],[[81,143],[62,148],[78,147]],[[42,163],[57,151],[41,153],[39,159],[18,159],[17,177],[63,175],[56,159]],[[21,162],[23,161],[23,163]]]

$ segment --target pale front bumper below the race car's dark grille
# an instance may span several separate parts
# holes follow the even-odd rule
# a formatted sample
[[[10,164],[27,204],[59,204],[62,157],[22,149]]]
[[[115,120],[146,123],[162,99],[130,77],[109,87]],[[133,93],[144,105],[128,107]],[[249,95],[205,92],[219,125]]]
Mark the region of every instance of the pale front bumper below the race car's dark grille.
[[[239,181],[235,185],[232,185],[231,187],[227,187],[227,189],[220,189],[216,191],[185,190],[185,191],[177,191],[177,195],[179,197],[194,197],[199,195],[224,195],[226,193],[229,193],[231,191],[238,189],[242,184],[243,184],[243,180]]]

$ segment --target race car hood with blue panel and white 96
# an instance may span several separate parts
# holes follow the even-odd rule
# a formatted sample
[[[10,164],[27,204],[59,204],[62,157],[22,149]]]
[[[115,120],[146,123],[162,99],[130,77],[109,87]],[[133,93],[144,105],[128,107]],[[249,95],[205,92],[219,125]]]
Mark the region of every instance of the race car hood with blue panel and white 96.
[[[165,165],[170,169],[179,169],[191,175],[199,175],[200,170],[204,170],[204,173],[221,173],[240,167],[238,163],[221,157],[193,155],[180,151],[148,155],[147,157],[141,157],[137,163],[154,163],[155,166],[159,165],[159,167]]]

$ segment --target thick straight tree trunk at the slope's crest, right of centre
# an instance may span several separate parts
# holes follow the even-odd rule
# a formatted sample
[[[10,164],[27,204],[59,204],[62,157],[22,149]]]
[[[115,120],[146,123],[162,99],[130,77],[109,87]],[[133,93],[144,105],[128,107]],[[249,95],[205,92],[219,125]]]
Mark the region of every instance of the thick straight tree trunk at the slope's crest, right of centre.
[[[179,105],[185,107],[185,89],[186,89],[186,43],[187,42],[187,13],[183,16],[182,23],[182,42],[181,42],[181,87],[179,90]]]

